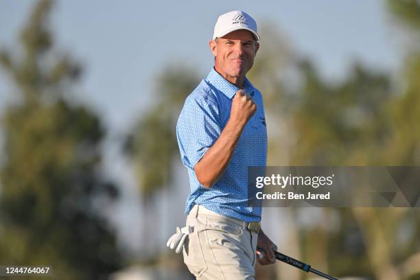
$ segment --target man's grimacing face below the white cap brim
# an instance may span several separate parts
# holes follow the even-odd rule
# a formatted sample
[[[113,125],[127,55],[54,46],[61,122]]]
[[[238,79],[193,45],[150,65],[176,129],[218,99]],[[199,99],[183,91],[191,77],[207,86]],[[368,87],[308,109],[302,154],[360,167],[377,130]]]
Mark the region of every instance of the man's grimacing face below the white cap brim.
[[[211,40],[209,46],[215,56],[215,69],[227,80],[242,79],[253,67],[259,43],[248,30],[235,30]]]

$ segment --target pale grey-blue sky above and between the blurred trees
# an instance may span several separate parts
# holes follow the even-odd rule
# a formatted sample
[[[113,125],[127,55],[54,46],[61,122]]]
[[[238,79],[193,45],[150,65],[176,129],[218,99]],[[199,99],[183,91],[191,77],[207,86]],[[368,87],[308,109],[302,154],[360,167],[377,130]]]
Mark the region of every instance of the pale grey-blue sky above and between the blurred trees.
[[[17,32],[34,3],[0,0],[0,48],[16,46]],[[244,10],[257,23],[270,22],[285,34],[294,52],[310,57],[327,79],[345,75],[354,59],[391,72],[400,66],[402,51],[385,1],[62,0],[54,5],[50,26],[58,49],[84,67],[76,96],[100,113],[112,136],[124,134],[150,108],[159,82],[154,77],[168,63],[187,63],[201,75],[208,73],[213,62],[208,40],[217,17],[230,10]],[[12,92],[0,70],[0,114]],[[133,195],[130,165],[116,145],[107,147],[106,168],[125,189],[126,202],[115,212],[124,228],[133,215],[140,215],[141,207]],[[177,211],[182,208],[172,204]],[[123,235],[138,244],[140,231],[131,224]]]

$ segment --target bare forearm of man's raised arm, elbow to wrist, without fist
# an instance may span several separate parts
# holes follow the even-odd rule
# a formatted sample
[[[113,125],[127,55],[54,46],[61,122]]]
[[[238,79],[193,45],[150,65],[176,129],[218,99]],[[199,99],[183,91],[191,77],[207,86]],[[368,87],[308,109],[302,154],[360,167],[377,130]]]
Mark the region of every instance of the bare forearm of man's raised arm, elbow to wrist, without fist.
[[[194,166],[201,185],[209,188],[222,176],[235,151],[245,124],[237,124],[229,120],[218,140]]]

